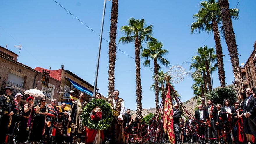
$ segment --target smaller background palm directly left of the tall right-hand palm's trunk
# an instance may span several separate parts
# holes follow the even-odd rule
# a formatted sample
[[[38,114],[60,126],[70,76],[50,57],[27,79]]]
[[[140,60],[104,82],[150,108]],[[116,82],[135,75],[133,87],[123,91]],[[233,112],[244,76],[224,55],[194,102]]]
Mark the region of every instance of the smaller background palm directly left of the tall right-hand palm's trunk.
[[[211,47],[211,48],[208,49],[207,45],[204,46],[204,47],[199,47],[198,48],[198,55],[202,58],[203,62],[205,63],[205,70],[206,70],[206,74],[207,74],[208,88],[209,88],[209,90],[212,90],[210,67],[209,67],[209,63],[210,63],[209,55],[211,56],[211,62],[215,62],[217,56],[216,56],[216,54],[214,54],[214,48]],[[212,68],[214,68],[214,70],[215,70],[216,67],[217,66],[215,65]]]

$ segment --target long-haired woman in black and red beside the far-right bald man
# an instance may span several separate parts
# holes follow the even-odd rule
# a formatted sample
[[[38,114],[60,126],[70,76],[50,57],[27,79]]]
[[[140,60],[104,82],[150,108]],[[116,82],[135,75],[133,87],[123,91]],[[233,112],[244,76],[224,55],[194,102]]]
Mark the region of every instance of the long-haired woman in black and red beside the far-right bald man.
[[[246,94],[241,92],[239,93],[239,103],[238,103],[238,109],[237,109],[237,117],[238,117],[238,120],[239,122],[237,123],[237,138],[238,138],[238,141],[239,143],[246,143],[246,138],[249,138],[249,135],[248,134],[245,134],[244,135],[244,132],[243,132],[243,122],[244,122],[244,117],[243,117],[243,107],[244,107],[244,99],[246,99]]]

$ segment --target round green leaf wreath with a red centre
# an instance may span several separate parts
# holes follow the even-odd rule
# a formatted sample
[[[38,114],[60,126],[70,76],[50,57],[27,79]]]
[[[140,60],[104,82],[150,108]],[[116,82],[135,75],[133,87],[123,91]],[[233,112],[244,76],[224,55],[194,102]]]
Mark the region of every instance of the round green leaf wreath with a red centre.
[[[98,106],[102,110],[102,117],[99,122],[95,122],[91,119],[90,113],[93,109]],[[82,122],[83,125],[90,129],[107,129],[113,120],[113,111],[111,106],[107,101],[103,99],[93,99],[83,108],[82,112]]]

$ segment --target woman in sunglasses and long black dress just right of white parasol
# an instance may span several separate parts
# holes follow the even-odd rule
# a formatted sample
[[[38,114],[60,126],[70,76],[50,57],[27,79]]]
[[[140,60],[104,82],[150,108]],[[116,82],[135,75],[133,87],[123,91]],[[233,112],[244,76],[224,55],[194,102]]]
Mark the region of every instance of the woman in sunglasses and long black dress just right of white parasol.
[[[45,126],[45,116],[47,113],[48,109],[47,106],[45,106],[45,98],[41,98],[40,103],[35,108],[35,117],[31,131],[31,141],[38,143],[42,139]]]

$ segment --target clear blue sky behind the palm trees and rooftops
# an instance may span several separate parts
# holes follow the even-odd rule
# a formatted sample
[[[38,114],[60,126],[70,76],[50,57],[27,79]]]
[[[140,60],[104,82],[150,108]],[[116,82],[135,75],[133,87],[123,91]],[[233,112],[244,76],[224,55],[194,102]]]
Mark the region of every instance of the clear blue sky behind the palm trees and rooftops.
[[[100,32],[103,0],[56,0],[64,8],[79,18],[91,29]],[[235,8],[238,0],[230,0],[230,8]],[[127,24],[130,17],[144,18],[147,25],[153,25],[153,36],[163,43],[163,48],[169,51],[165,57],[171,65],[179,64],[189,71],[192,56],[196,49],[207,45],[215,47],[213,34],[190,34],[190,24],[194,22],[193,14],[200,9],[200,0],[186,1],[154,1],[154,0],[120,0],[118,6],[117,42],[122,33],[120,27]],[[233,21],[236,34],[240,64],[245,63],[253,51],[255,42],[255,8],[256,1],[240,1],[240,19]],[[107,1],[104,21],[103,38],[109,40],[111,1]],[[14,45],[22,45],[19,62],[29,67],[43,67],[52,70],[61,68],[70,70],[89,83],[94,83],[99,36],[85,25],[72,17],[53,0],[40,1],[1,1],[0,45],[19,53]],[[230,56],[225,40],[221,40],[226,83],[232,84],[234,76]],[[102,51],[99,64],[97,88],[103,95],[108,90],[108,46],[102,41]],[[117,44],[117,47],[134,58],[134,44]],[[146,45],[143,45],[146,48]],[[136,109],[135,61],[117,50],[115,65],[115,89],[120,91],[120,97],[125,100],[125,107]],[[143,59],[141,59],[143,62]],[[183,63],[183,64],[182,64]],[[150,67],[153,67],[151,65]],[[162,68],[167,71],[168,68]],[[143,91],[142,107],[155,107],[152,85],[153,71],[141,65],[141,85]],[[218,73],[213,73],[214,87],[220,86]],[[191,77],[174,84],[186,101],[193,97]]]

